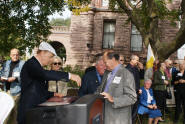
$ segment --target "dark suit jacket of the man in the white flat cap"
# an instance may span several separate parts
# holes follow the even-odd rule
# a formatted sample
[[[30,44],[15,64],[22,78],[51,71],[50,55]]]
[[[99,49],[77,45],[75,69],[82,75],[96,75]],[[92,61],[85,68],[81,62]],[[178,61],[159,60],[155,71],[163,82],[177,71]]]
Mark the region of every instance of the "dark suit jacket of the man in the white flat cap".
[[[21,71],[21,97],[18,108],[18,123],[25,124],[25,114],[31,108],[53,96],[47,89],[47,81],[68,79],[68,73],[44,70],[39,61],[32,57]]]

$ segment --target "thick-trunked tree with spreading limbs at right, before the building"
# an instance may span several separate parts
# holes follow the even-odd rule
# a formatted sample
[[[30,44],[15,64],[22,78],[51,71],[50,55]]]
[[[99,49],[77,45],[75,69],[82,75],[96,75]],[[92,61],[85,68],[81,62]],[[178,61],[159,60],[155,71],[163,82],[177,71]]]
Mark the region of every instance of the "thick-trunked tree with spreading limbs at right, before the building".
[[[71,1],[72,5],[76,5],[73,6],[74,12],[83,8],[78,7],[78,2],[82,4],[90,2],[90,0]],[[185,44],[185,0],[179,0],[178,9],[168,9],[167,4],[170,2],[172,0],[109,0],[109,7],[114,11],[117,5],[121,13],[126,13],[128,21],[140,32],[144,44],[148,46],[150,43],[155,57],[164,60]],[[181,27],[172,41],[164,42],[161,39],[159,22],[167,20],[173,25],[180,21]]]

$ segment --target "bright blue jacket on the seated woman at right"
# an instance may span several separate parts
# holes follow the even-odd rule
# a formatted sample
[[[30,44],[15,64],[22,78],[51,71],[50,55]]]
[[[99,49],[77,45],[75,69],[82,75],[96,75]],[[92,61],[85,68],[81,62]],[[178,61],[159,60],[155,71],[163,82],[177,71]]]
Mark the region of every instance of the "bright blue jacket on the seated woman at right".
[[[148,99],[147,91],[145,90],[144,87],[142,87],[141,90],[142,90],[142,94],[139,97],[138,113],[139,114],[144,114],[146,111],[148,111],[149,103],[147,103],[147,99]],[[155,101],[154,96],[153,96],[153,91],[152,91],[151,88],[149,89],[149,93],[153,97],[153,100],[151,101],[151,104],[152,105],[156,104],[156,101]]]

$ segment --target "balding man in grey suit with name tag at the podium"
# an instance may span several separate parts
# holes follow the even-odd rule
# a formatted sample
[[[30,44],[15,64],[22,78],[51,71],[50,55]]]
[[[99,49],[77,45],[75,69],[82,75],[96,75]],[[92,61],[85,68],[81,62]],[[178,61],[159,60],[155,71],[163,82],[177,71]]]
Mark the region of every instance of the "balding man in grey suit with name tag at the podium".
[[[132,74],[119,62],[119,54],[104,54],[107,70],[96,93],[105,100],[105,124],[132,124],[131,105],[136,102],[135,82]]]

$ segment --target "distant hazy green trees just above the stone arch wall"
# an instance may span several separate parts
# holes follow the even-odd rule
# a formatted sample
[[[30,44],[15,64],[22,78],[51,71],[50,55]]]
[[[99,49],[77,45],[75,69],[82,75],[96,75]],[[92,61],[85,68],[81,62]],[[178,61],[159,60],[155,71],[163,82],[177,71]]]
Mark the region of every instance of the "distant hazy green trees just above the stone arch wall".
[[[56,18],[50,21],[51,26],[67,26],[70,27],[71,18],[63,19],[63,18]]]

